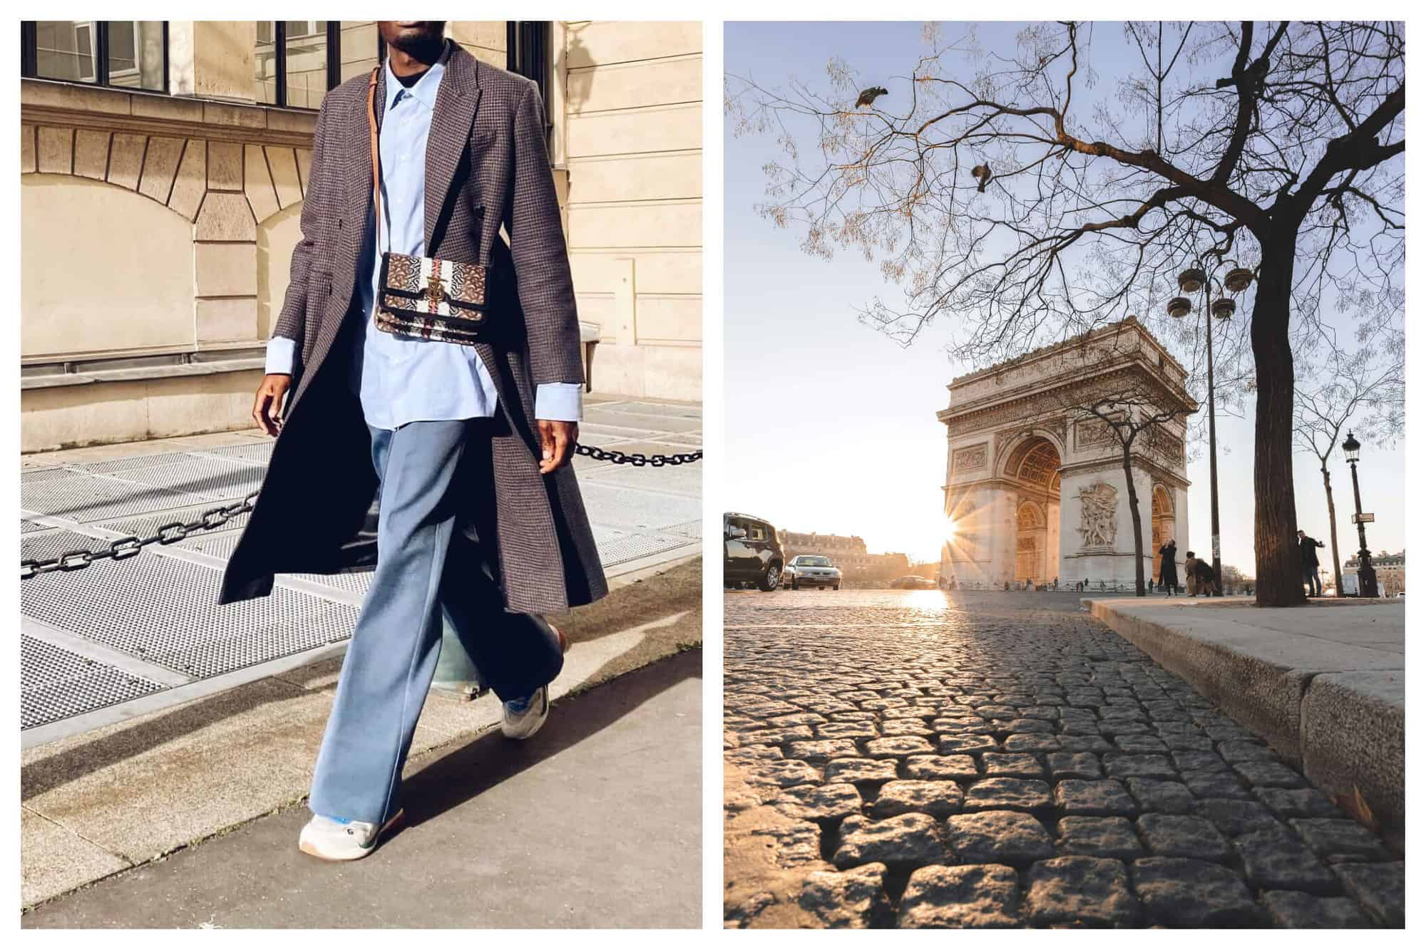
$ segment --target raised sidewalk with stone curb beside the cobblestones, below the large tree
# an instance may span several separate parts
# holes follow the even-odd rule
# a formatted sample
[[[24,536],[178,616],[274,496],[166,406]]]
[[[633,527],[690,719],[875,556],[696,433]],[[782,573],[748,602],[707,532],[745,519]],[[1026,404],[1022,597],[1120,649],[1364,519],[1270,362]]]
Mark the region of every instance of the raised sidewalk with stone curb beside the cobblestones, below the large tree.
[[[1251,598],[1085,599],[1099,620],[1262,736],[1329,793],[1405,826],[1406,608]]]

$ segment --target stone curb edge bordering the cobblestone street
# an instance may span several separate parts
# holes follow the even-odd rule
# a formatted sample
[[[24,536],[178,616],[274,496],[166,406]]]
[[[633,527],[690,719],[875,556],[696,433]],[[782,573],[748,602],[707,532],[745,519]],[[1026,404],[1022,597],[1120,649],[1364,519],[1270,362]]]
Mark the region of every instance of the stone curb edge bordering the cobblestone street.
[[[1380,672],[1312,670],[1082,599],[1089,615],[1262,737],[1328,795],[1358,789],[1383,829],[1406,823],[1406,705],[1369,692]]]

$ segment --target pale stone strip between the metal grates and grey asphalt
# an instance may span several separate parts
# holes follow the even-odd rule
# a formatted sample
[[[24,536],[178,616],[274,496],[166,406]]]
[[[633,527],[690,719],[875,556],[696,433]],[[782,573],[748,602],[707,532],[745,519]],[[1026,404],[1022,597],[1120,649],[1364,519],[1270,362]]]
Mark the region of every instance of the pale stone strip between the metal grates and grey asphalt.
[[[702,643],[702,571],[694,558],[626,582],[562,618],[570,649],[550,698],[559,702]],[[26,749],[21,906],[304,802],[344,649],[337,645],[328,659]],[[406,775],[488,733],[499,716],[493,695],[462,702],[432,693]],[[696,737],[686,740],[696,750]],[[662,749],[636,772],[646,777],[673,755]],[[603,847],[622,847],[619,823],[590,827],[606,832]]]

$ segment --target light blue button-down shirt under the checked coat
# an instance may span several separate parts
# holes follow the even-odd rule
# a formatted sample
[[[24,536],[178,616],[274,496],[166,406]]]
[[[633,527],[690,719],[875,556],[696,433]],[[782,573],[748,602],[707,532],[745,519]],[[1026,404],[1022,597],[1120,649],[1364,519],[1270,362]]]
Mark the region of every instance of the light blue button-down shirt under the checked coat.
[[[381,251],[421,257],[426,252],[426,138],[435,114],[436,91],[445,57],[409,88],[386,70],[386,101],[381,124],[381,244],[375,247],[374,214],[366,215],[366,235],[358,258],[356,294],[362,321],[352,349],[352,384],[361,394],[366,424],[395,429],[422,419],[471,419],[495,414],[495,381],[473,347],[388,334],[372,324],[372,301],[381,282]],[[389,241],[389,242],[388,242]],[[267,372],[291,372],[295,341],[268,341]],[[578,421],[580,385],[542,382],[536,388],[535,417]]]

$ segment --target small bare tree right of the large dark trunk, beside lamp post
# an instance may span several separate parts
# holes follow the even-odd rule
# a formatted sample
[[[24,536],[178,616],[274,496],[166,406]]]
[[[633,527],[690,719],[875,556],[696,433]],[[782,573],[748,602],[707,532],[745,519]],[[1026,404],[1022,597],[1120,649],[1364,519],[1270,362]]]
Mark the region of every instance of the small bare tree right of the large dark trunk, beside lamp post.
[[[1353,354],[1333,351],[1326,368],[1312,385],[1296,388],[1292,438],[1310,452],[1322,472],[1328,496],[1328,532],[1332,539],[1332,578],[1342,591],[1342,559],[1338,553],[1336,504],[1332,501],[1332,472],[1328,461],[1342,445],[1342,429],[1353,422],[1368,442],[1395,442],[1406,422],[1405,348],[1383,351],[1363,347]]]

